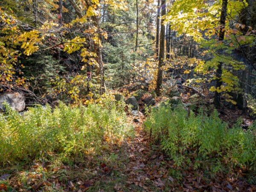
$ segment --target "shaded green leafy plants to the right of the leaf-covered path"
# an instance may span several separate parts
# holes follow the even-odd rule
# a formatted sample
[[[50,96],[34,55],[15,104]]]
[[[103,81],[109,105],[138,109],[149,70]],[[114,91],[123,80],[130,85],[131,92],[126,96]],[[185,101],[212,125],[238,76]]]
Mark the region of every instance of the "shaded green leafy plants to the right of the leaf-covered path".
[[[256,170],[255,123],[247,131],[241,128],[241,122],[228,128],[216,110],[210,116],[202,109],[195,115],[180,105],[175,109],[152,108],[145,127],[178,166],[193,162],[194,169],[207,166],[215,173],[225,164],[229,169],[233,165]]]

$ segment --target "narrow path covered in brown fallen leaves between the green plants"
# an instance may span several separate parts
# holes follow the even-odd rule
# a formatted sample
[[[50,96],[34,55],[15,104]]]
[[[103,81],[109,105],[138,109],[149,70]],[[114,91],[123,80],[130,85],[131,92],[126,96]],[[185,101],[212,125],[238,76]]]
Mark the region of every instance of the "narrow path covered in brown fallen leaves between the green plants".
[[[133,121],[135,138],[127,141],[128,163],[122,169],[127,176],[125,187],[130,191],[170,191],[172,177],[168,178],[167,169],[163,166],[163,154],[152,150],[149,145],[149,135],[143,130],[145,116],[139,113],[139,116],[128,118]],[[116,185],[115,189],[122,191],[123,188]]]

